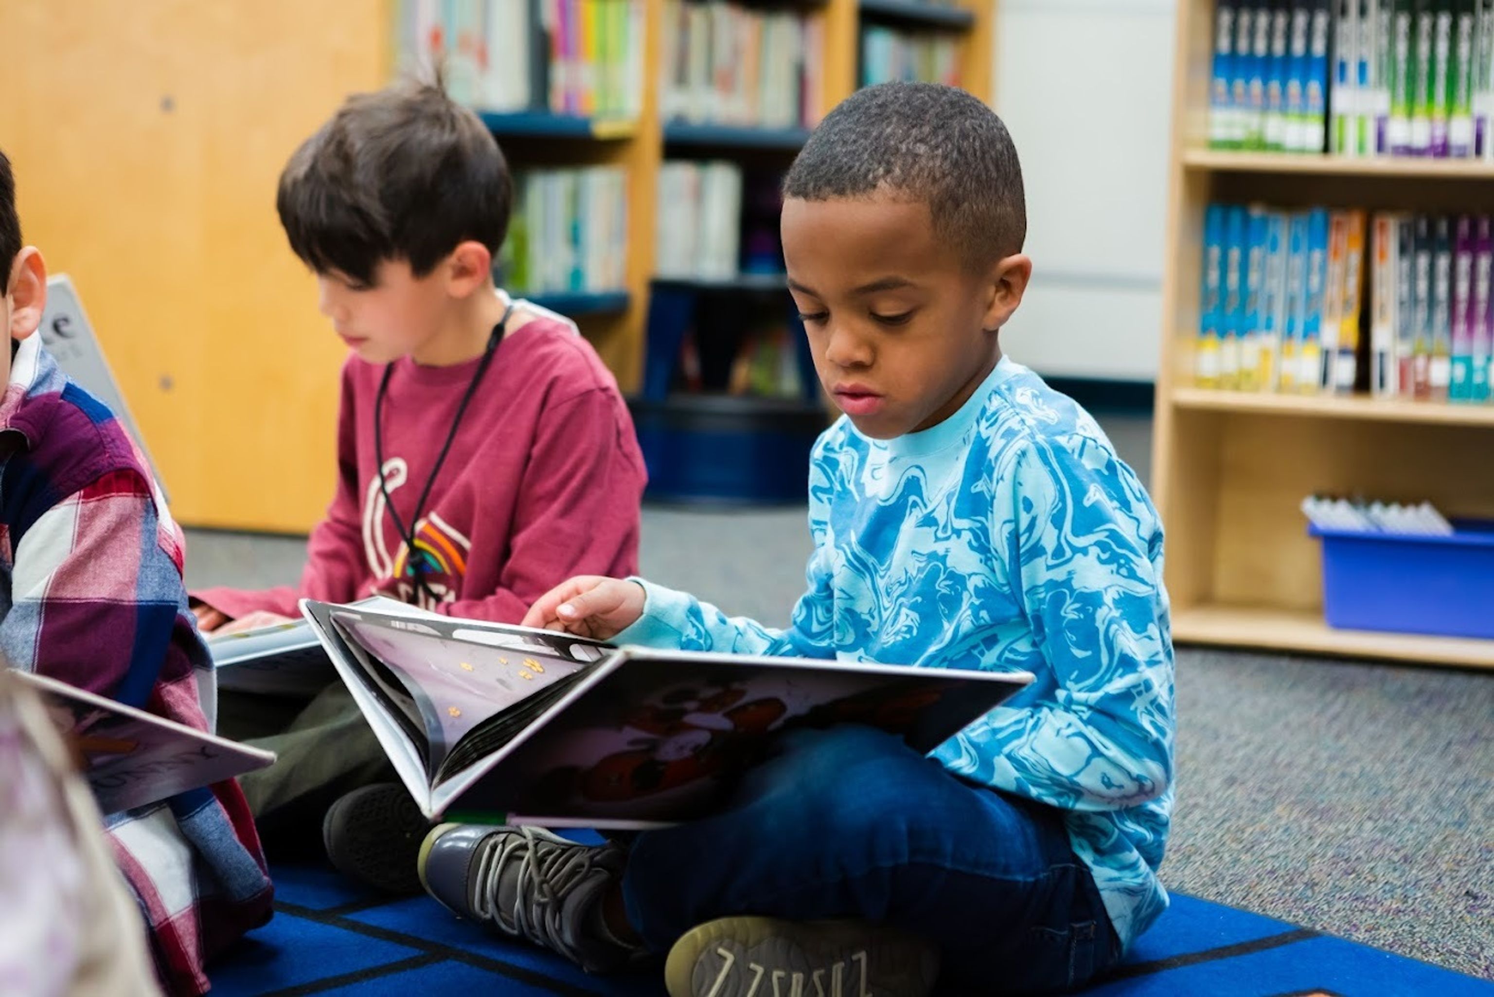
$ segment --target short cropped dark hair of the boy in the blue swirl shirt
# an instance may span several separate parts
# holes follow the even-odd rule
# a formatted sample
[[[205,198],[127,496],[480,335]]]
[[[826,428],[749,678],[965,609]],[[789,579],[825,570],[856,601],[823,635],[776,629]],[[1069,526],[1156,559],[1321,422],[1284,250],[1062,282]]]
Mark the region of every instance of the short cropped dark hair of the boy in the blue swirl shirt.
[[[1026,202],[1007,126],[980,100],[938,84],[880,84],[835,106],[783,181],[784,197],[831,200],[877,190],[922,200],[934,232],[970,266],[1022,251]]]

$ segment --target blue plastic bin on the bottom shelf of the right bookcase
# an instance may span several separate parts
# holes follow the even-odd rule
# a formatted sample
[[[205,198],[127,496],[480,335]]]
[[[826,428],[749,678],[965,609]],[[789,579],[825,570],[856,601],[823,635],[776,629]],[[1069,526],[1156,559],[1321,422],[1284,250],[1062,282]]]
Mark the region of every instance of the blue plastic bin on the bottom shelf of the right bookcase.
[[[1494,520],[1451,537],[1309,526],[1322,540],[1322,608],[1340,629],[1494,638]]]

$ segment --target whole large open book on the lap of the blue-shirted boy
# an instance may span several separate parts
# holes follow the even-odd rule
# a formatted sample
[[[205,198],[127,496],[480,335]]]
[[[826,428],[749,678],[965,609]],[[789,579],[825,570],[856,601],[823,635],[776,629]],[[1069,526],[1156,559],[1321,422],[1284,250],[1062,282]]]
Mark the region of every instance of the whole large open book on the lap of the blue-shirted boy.
[[[430,819],[647,828],[707,816],[795,728],[926,753],[1032,676],[614,647],[302,601]]]

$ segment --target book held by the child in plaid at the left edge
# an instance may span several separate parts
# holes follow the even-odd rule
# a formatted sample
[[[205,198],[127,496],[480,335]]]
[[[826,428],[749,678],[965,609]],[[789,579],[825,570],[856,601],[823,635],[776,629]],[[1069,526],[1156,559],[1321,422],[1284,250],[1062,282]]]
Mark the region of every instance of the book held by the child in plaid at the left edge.
[[[42,694],[46,712],[81,758],[82,776],[105,816],[275,761],[273,752],[236,744],[57,679],[30,671],[10,674]]]

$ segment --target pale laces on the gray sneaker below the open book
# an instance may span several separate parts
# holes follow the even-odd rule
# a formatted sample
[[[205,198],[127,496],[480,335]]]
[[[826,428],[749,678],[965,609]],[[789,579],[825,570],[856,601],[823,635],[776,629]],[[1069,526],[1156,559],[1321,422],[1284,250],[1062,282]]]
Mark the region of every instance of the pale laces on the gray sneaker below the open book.
[[[565,900],[589,882],[611,877],[610,870],[598,865],[596,859],[613,846],[556,842],[542,836],[542,831],[536,834],[533,828],[518,827],[484,842],[472,880],[472,912],[508,934],[529,939],[580,963],[580,925],[568,924]],[[512,864],[517,864],[517,874],[512,880],[512,900],[505,910],[499,894],[505,870]]]

